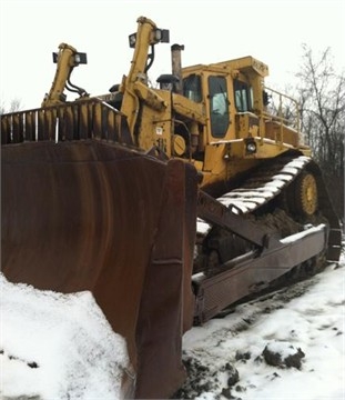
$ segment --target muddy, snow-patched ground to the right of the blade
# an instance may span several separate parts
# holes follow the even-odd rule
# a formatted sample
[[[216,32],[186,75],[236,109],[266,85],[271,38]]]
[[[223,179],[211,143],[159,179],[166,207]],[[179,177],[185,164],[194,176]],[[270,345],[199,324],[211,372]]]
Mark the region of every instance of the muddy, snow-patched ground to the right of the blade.
[[[344,332],[342,262],[186,332],[184,362],[190,373],[177,396],[344,400]],[[266,357],[267,350],[275,357]],[[288,356],[295,356],[294,362]]]

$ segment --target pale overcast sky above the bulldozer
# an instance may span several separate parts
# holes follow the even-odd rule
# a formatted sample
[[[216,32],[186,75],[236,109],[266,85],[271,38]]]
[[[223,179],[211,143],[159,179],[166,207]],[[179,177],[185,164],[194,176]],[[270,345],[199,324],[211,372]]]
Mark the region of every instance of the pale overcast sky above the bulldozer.
[[[282,89],[298,70],[302,43],[315,53],[331,47],[345,67],[343,0],[0,0],[0,106],[19,99],[40,107],[61,42],[88,53],[72,82],[91,94],[119,83],[130,68],[128,36],[140,16],[170,30],[156,46],[150,78],[171,71],[170,46],[184,44],[183,66],[253,56],[270,67],[268,84]]]

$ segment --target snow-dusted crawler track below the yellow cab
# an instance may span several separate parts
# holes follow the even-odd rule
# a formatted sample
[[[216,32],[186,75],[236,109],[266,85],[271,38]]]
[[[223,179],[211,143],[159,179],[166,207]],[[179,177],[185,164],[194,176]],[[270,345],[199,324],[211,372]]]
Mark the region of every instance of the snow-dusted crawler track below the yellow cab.
[[[296,210],[298,200],[298,177],[310,173],[317,186],[317,211],[305,216]],[[252,172],[242,184],[217,198],[234,213],[258,220],[260,223],[278,231],[284,238],[301,232],[306,226],[326,223],[329,229],[328,247],[325,259],[337,261],[341,253],[342,234],[338,219],[329,201],[322,173],[308,157],[288,154],[270,160]],[[196,272],[216,273],[222,264],[232,257],[239,257],[248,244],[236,236],[224,233],[217,227],[197,220]],[[214,244],[215,243],[215,244]],[[313,261],[314,262],[314,261]],[[210,272],[212,271],[212,272]]]

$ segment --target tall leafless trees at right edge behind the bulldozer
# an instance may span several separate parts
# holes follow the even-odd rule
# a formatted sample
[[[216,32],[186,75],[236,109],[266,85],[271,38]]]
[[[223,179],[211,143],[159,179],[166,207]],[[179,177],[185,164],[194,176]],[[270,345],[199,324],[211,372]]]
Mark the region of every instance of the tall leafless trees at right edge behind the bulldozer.
[[[331,48],[315,57],[303,46],[298,78],[302,131],[312,147],[334,199],[344,218],[345,76],[334,69]]]

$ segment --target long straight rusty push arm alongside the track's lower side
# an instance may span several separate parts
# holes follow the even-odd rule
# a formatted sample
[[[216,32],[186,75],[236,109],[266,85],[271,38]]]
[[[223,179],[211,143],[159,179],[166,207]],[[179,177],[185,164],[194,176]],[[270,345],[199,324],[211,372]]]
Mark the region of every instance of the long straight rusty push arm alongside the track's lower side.
[[[326,227],[313,227],[270,244],[267,249],[239,257],[233,266],[225,263],[223,272],[214,277],[194,281],[197,323],[204,323],[229,304],[260,292],[293,267],[325,251]]]

